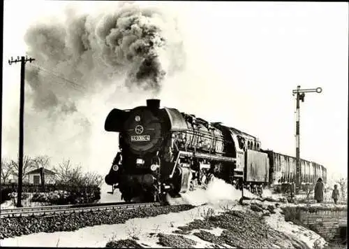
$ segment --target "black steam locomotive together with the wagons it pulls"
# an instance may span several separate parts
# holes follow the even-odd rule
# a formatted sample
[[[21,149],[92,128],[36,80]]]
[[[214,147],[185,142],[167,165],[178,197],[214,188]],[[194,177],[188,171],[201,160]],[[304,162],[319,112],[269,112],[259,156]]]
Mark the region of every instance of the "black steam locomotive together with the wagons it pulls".
[[[125,201],[164,201],[165,194],[176,197],[214,178],[252,192],[295,182],[295,157],[262,150],[258,138],[220,122],[160,108],[158,99],[114,108],[105,130],[119,132],[120,150],[105,183],[119,188]],[[326,181],[324,166],[303,159],[301,166],[303,185]]]

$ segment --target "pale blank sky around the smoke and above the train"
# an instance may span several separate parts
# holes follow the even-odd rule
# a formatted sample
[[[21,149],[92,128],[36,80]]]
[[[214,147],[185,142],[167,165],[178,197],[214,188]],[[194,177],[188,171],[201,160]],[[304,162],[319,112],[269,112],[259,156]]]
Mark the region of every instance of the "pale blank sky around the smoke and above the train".
[[[17,154],[17,133],[13,136],[13,132],[18,130],[20,66],[9,66],[8,59],[27,51],[25,32],[37,22],[63,20],[67,6],[94,15],[111,3],[4,2],[2,145],[4,155],[13,157]],[[295,156],[292,90],[297,85],[322,87],[321,94],[306,94],[301,103],[301,157],[327,166],[329,173],[347,175],[348,3],[157,4],[177,16],[187,54],[185,69],[163,84],[158,96],[162,106],[223,122],[258,136],[262,148]],[[84,159],[78,149],[82,142],[75,141],[74,152],[71,141],[61,143],[61,152],[51,150],[54,141],[41,136],[40,127],[25,131],[38,134],[38,146],[26,144],[24,151],[50,155],[54,162],[70,157],[88,169],[107,172],[117,148],[116,134],[103,130],[107,112],[145,104],[147,97],[132,95],[128,101],[115,98],[107,104],[98,97],[82,101],[95,117],[89,117],[93,136],[85,141],[90,151]],[[103,103],[105,109],[93,109],[88,106],[91,103]]]

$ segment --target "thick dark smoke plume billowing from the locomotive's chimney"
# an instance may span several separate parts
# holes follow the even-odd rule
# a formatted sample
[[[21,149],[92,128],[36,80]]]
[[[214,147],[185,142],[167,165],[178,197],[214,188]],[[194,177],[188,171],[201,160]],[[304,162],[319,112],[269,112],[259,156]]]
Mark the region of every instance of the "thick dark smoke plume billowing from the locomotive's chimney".
[[[65,23],[35,24],[25,41],[36,59],[26,72],[34,108],[62,114],[113,84],[156,94],[165,77],[183,66],[174,20],[134,4],[98,17],[70,11]]]

